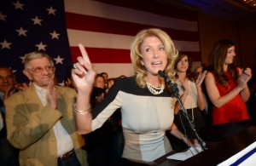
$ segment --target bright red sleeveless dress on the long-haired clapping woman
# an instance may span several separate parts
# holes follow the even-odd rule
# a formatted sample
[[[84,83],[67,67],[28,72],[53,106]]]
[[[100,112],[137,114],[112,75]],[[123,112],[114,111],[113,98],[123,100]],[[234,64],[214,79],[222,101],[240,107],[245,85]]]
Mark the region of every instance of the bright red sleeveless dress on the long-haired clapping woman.
[[[212,72],[213,76],[215,73]],[[228,87],[216,81],[216,86],[220,96],[228,94],[237,85],[235,79],[231,76],[230,72],[225,73],[229,78]],[[248,112],[246,103],[241,99],[241,94],[237,94],[236,97],[230,100],[227,104],[221,107],[212,106],[212,125],[221,123],[231,123],[248,119]]]

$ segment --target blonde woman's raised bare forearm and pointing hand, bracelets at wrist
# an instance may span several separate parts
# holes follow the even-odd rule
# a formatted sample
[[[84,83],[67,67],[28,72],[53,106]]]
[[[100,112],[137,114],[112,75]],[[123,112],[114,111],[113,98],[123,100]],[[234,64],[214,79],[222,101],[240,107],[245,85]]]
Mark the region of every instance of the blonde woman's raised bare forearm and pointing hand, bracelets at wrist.
[[[96,72],[93,70],[88,54],[82,44],[79,44],[79,49],[82,56],[79,56],[78,62],[74,64],[72,77],[78,90],[77,102],[74,106],[76,124],[78,133],[83,135],[91,131],[90,94],[93,89]]]

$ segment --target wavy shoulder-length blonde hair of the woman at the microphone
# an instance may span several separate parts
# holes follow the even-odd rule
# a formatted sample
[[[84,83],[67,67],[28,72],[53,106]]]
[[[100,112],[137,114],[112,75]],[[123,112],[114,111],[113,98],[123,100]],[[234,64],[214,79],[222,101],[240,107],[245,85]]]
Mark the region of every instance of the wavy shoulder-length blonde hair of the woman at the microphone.
[[[166,75],[171,79],[173,79],[175,76],[174,62],[178,54],[171,37],[165,31],[158,28],[149,28],[139,31],[133,43],[131,43],[131,63],[136,75],[136,83],[142,88],[146,86],[145,77],[147,76],[147,72],[144,66],[141,64],[141,60],[143,60],[141,46],[146,37],[158,37],[164,44],[167,54],[167,65],[163,72],[165,72]]]

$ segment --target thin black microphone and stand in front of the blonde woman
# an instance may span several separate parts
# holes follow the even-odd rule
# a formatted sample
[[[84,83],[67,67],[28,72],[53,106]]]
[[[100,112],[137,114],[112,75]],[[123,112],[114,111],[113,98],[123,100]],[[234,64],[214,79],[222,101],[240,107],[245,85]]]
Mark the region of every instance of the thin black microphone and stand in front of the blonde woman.
[[[166,83],[167,83],[167,85],[168,85],[168,87],[171,91],[172,97],[174,96],[174,97],[177,98],[178,104],[182,108],[183,116],[186,117],[186,119],[188,120],[189,127],[193,131],[194,135],[196,136],[196,140],[198,140],[202,150],[205,151],[206,150],[206,143],[203,140],[201,140],[200,136],[197,134],[197,132],[195,130],[195,125],[194,125],[194,123],[191,122],[191,120],[190,120],[191,117],[189,116],[189,114],[187,113],[186,109],[183,106],[183,102],[180,98],[180,95],[178,94],[177,83],[172,83],[171,80],[169,82],[166,82]]]

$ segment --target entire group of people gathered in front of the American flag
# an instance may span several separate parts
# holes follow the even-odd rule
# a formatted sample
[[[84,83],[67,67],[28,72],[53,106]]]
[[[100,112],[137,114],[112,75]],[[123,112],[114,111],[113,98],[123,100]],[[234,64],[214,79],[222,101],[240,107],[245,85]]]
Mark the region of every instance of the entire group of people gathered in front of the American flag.
[[[165,31],[144,29],[131,43],[129,77],[96,73],[82,44],[79,49],[64,86],[55,83],[54,62],[43,52],[25,56],[29,85],[0,66],[0,165],[114,166],[121,157],[152,162],[201,146],[190,123],[198,130],[255,118],[247,106],[252,95],[255,100],[255,80],[250,68],[236,65],[230,40],[215,43],[209,66],[193,72],[189,54]],[[176,83],[183,106],[159,71]]]

